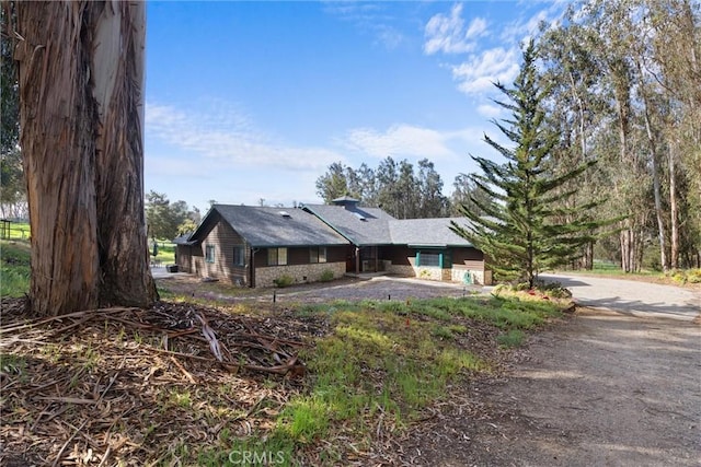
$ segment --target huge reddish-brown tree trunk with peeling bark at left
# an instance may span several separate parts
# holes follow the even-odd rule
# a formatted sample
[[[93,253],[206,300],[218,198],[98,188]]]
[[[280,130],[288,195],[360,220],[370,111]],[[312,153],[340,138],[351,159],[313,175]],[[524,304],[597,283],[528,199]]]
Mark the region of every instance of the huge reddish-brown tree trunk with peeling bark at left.
[[[157,299],[143,213],[142,2],[18,2],[39,315]]]

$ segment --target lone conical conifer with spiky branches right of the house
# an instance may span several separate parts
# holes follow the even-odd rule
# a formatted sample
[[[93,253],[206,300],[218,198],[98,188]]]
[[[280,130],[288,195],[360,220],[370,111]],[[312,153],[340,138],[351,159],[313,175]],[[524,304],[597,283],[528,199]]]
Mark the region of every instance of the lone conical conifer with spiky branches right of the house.
[[[575,191],[559,189],[595,161],[579,164],[563,175],[554,175],[549,170],[559,135],[545,126],[541,104],[548,90],[539,86],[536,59],[536,45],[531,40],[524,50],[524,63],[514,87],[495,84],[509,101],[496,104],[508,109],[512,119],[494,124],[514,147],[503,147],[485,135],[485,141],[506,162],[498,164],[472,156],[483,174],[470,174],[470,178],[478,189],[489,195],[489,201],[484,201],[485,197],[472,196],[478,210],[471,210],[469,205],[459,208],[469,224],[453,222],[451,227],[484,252],[497,277],[528,281],[531,288],[539,271],[582,256],[581,247],[594,240],[594,229],[606,223],[584,220],[586,211],[599,201],[570,209],[563,201]],[[562,219],[571,221],[565,224]]]

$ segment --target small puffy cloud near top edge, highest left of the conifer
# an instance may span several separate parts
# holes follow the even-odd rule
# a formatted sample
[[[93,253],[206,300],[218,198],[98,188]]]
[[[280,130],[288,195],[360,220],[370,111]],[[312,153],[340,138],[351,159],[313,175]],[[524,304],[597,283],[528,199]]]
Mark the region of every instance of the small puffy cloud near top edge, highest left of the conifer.
[[[474,49],[475,44],[470,42],[484,34],[486,22],[482,19],[474,19],[466,30],[462,20],[462,3],[456,3],[450,10],[450,15],[438,13],[434,15],[424,28],[424,52],[434,55],[464,54]]]

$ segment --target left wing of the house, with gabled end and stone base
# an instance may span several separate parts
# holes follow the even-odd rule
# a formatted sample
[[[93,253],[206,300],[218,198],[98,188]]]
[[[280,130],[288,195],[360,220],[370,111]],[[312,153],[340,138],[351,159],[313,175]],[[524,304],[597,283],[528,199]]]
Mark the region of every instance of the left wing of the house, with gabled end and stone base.
[[[174,243],[179,270],[243,287],[346,272],[348,242],[301,209],[214,205],[195,232]]]

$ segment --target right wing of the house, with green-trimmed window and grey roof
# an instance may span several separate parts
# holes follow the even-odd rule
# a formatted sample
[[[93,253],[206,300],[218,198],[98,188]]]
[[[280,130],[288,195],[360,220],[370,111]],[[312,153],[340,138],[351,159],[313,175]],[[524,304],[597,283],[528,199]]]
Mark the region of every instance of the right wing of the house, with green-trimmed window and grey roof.
[[[387,271],[400,276],[463,283],[492,283],[484,255],[450,230],[464,218],[394,219],[379,208],[365,208],[342,197],[333,205],[303,205],[353,246],[346,270]]]

